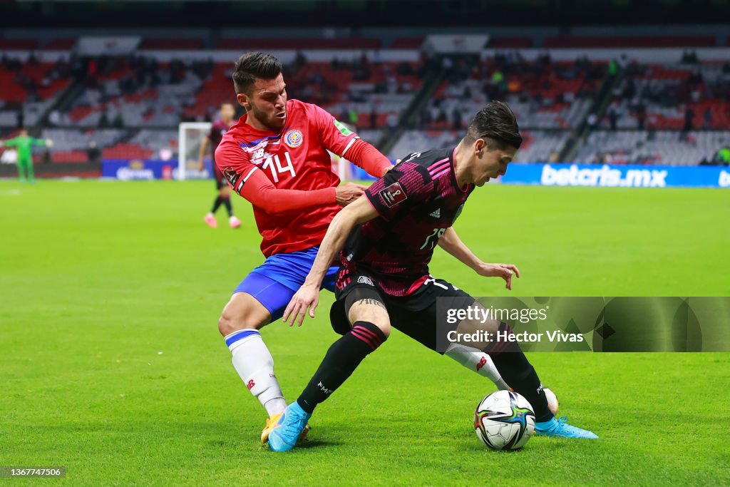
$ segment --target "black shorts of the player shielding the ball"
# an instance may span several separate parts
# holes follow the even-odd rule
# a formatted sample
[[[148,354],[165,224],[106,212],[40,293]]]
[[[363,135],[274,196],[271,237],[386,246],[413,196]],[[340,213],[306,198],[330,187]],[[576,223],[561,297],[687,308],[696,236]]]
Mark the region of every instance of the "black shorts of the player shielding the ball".
[[[414,293],[408,296],[390,296],[377,286],[377,280],[356,275],[350,284],[338,290],[337,300],[330,309],[332,328],[339,334],[350,331],[347,313],[361,299],[377,299],[385,305],[391,326],[407,334],[431,350],[437,349],[437,299],[456,298],[463,303],[469,294],[443,279],[429,277]],[[473,299],[473,298],[472,298]]]

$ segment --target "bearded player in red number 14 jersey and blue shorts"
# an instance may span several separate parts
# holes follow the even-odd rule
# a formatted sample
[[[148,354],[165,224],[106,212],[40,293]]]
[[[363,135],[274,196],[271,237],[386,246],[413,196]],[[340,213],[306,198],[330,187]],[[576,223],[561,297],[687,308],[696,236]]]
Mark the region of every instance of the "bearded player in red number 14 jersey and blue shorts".
[[[235,289],[218,329],[239,376],[269,414],[261,434],[266,441],[286,402],[258,330],[281,318],[332,218],[364,189],[339,185],[328,150],[374,177],[383,176],[391,162],[325,110],[288,100],[282,66],[272,55],[242,55],[233,80],[247,113],[223,134],[215,164],[228,185],[253,205],[266,260]],[[334,292],[338,270],[328,269],[323,288]]]

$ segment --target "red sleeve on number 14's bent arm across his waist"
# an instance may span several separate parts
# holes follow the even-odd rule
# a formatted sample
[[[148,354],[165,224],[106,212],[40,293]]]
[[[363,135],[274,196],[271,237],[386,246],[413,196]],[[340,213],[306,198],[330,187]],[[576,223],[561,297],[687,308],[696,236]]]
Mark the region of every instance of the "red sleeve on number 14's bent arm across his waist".
[[[251,164],[248,154],[231,140],[218,145],[215,164],[233,191],[271,215],[337,202],[334,186],[314,191],[277,188],[258,166]]]

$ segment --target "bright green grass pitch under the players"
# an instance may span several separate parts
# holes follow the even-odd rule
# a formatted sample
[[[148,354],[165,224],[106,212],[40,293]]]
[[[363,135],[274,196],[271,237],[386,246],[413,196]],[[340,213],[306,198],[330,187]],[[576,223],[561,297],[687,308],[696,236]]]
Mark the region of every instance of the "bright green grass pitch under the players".
[[[78,485],[718,485],[730,478],[730,353],[534,353],[594,442],[493,452],[472,413],[493,386],[394,332],[274,454],[216,327],[262,261],[244,226],[202,221],[210,181],[0,183],[0,465],[64,465]],[[456,230],[520,266],[515,296],[728,296],[730,193],[488,185]],[[475,296],[504,295],[437,250]],[[293,400],[336,339],[317,318],[264,337]]]

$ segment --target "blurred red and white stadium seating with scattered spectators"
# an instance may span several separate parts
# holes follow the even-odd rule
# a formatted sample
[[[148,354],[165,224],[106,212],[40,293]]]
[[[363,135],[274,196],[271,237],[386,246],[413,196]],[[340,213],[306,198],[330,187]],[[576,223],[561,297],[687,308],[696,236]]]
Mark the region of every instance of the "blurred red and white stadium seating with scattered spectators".
[[[77,39],[0,39],[0,129],[7,137],[22,124],[53,139],[52,164],[88,162],[97,152],[174,157],[180,122],[212,120],[221,101],[234,101],[232,60],[222,62],[221,50],[262,49],[296,51],[285,65],[289,96],[356,126],[393,159],[453,144],[491,99],[508,101],[518,115],[525,142],[517,161],[687,165],[712,161],[730,145],[730,56],[704,60],[694,52],[717,46],[717,36],[496,35],[479,59],[429,60],[426,35],[410,33],[226,35],[145,36],[132,55],[71,53],[55,62],[44,53],[71,50]],[[215,46],[205,51],[210,58],[193,55],[207,46]],[[545,50],[529,54],[536,47]],[[550,55],[575,47],[612,47],[616,59]],[[653,50],[661,58],[667,49],[684,55],[647,62]],[[23,62],[12,55],[19,50],[30,53]],[[393,61],[392,53],[409,51],[420,61]],[[638,51],[643,57],[634,59]]]

